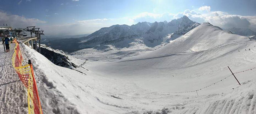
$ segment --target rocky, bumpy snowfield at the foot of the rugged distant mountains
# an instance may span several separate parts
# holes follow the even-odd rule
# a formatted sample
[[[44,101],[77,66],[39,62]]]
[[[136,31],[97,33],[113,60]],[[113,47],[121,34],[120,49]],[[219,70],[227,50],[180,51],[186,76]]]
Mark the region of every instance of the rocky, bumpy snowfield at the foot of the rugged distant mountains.
[[[102,46],[101,49],[82,49],[73,52],[71,55],[84,60],[115,61],[123,57],[140,55],[144,52],[155,50],[156,48],[159,48],[159,46],[155,48],[147,47],[142,40],[134,39],[133,42],[129,43],[128,46],[124,48],[105,45]]]

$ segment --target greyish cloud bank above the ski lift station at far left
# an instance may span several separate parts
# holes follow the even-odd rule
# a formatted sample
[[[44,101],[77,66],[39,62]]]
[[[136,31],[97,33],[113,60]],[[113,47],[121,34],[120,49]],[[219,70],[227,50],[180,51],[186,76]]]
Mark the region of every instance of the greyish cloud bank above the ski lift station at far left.
[[[27,27],[27,26],[34,26],[37,24],[44,24],[45,21],[41,21],[35,18],[26,18],[24,16],[12,15],[7,14],[3,11],[0,11],[0,23],[6,23],[11,25],[12,27]]]

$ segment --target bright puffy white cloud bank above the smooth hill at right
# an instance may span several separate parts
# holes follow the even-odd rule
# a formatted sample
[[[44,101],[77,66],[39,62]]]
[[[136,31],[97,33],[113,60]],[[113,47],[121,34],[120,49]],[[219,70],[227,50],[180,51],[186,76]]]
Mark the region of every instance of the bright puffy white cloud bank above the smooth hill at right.
[[[203,6],[197,11],[186,9],[182,13],[175,14],[174,17],[180,18],[184,15],[192,21],[199,23],[210,22],[221,28],[250,28],[256,31],[256,16],[231,15],[222,11],[210,11],[210,6]]]

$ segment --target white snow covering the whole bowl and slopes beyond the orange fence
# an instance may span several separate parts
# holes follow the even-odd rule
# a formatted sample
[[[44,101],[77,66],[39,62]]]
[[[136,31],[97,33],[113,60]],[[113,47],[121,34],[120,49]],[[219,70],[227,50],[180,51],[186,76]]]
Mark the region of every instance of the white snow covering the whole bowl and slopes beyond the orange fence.
[[[90,50],[97,54],[77,51],[75,57],[89,60],[74,70],[54,65],[24,44],[21,50],[24,61],[32,60],[45,114],[256,113],[255,41],[203,23],[160,48],[140,52],[146,49],[142,42]],[[114,53],[122,59],[104,58]],[[239,86],[227,66],[234,73],[254,69],[235,74]],[[186,92],[194,90],[198,96]]]

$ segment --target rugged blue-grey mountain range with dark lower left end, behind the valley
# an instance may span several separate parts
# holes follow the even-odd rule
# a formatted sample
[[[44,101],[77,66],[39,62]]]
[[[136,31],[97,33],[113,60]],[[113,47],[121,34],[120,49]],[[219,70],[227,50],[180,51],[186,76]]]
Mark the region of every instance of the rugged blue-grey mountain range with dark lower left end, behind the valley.
[[[174,19],[170,22],[139,22],[135,25],[112,25],[81,38],[66,38],[62,40],[52,40],[45,43],[53,49],[65,52],[74,52],[81,49],[96,48],[105,49],[105,45],[114,47],[129,47],[130,43],[138,40],[147,47],[155,47],[168,43],[181,35],[189,32],[200,25],[191,21],[187,16]]]

